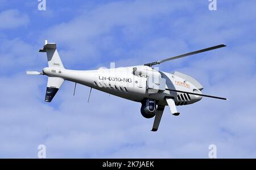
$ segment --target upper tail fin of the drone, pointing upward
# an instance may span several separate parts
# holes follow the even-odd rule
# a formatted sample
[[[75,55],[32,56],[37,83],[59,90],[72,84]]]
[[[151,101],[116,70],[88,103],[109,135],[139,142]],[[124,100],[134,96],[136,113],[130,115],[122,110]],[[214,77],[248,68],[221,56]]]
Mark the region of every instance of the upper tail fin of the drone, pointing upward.
[[[46,40],[46,44],[44,45],[44,48],[40,49],[39,52],[46,52],[49,67],[64,68],[60,60],[60,56],[56,46],[57,46],[56,43],[47,43],[47,40]]]

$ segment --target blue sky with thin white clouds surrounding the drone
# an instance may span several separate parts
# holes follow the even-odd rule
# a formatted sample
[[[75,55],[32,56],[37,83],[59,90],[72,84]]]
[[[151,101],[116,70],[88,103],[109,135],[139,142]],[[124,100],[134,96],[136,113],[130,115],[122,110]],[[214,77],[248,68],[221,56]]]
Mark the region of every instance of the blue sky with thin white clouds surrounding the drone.
[[[38,1],[0,0],[0,157],[208,158],[256,157],[255,1]],[[174,60],[161,71],[195,77],[203,98],[164,111],[158,132],[140,103],[64,82],[44,102],[47,77],[26,70],[47,67],[44,40],[57,43],[65,68],[138,65],[225,43],[225,48]]]

